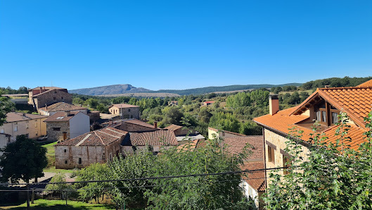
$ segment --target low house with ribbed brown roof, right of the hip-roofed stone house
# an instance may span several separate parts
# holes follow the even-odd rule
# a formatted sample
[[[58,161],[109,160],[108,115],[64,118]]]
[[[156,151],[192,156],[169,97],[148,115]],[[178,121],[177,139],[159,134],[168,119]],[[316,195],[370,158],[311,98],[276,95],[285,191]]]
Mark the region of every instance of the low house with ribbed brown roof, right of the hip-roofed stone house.
[[[153,154],[158,154],[161,147],[179,146],[174,132],[169,130],[155,130],[148,132],[129,132],[122,141],[122,154],[132,153],[137,149],[149,147]]]

